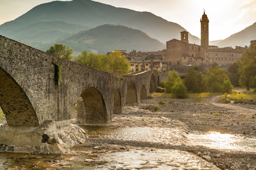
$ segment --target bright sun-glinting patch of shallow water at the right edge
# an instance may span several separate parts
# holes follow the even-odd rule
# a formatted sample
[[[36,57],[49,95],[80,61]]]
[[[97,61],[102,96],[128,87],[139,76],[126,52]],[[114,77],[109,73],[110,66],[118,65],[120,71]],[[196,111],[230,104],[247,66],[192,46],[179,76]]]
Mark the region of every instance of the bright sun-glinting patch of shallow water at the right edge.
[[[219,150],[256,152],[255,137],[244,139],[244,136],[228,133],[192,131],[189,134],[189,139],[194,145],[203,145]]]

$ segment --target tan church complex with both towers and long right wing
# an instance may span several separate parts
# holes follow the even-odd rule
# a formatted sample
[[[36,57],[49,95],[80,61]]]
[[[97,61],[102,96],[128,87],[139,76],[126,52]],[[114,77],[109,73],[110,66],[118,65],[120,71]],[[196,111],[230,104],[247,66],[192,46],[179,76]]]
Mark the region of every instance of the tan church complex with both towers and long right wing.
[[[240,46],[236,48],[218,48],[209,45],[209,19],[203,14],[201,23],[201,45],[189,43],[189,32],[180,32],[180,40],[172,39],[166,42],[165,61],[169,65],[211,65],[217,62],[219,65],[231,65],[246,50]]]

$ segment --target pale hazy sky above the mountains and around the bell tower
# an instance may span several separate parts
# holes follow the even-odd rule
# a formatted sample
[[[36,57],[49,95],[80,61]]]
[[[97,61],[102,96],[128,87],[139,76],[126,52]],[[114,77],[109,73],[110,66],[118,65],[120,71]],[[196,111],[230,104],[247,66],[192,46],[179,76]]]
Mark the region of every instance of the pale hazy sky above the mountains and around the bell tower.
[[[53,0],[0,0],[0,24],[14,20],[33,7]],[[65,1],[65,0],[62,0]],[[135,11],[148,11],[178,23],[200,38],[200,18],[205,8],[209,40],[220,40],[256,22],[256,0],[95,0]]]

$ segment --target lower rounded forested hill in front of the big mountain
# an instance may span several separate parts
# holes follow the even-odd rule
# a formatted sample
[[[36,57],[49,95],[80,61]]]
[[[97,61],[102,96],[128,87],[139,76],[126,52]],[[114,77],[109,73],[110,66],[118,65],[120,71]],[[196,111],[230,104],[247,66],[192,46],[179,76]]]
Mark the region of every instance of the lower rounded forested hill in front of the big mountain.
[[[87,31],[80,31],[68,37],[66,40],[57,39],[54,42],[23,42],[34,48],[46,51],[55,43],[61,43],[72,48],[75,52],[87,50],[89,53],[106,54],[118,50],[158,51],[166,48],[166,45],[156,39],[149,37],[144,32],[128,28],[105,24]]]

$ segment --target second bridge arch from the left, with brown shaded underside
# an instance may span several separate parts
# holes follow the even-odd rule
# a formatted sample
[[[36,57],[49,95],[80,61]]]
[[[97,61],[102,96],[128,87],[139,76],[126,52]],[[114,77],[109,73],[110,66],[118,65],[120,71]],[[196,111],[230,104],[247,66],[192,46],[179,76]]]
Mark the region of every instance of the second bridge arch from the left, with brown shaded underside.
[[[105,100],[96,88],[87,88],[81,94],[84,100],[86,123],[108,123],[108,113]]]

